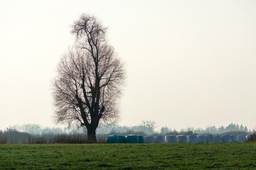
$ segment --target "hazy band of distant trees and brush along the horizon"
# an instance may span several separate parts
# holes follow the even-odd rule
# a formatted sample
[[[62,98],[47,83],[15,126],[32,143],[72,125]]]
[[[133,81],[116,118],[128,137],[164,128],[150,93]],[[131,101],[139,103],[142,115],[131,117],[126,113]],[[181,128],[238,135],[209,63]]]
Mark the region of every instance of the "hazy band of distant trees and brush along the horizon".
[[[105,142],[108,135],[198,135],[198,134],[251,134],[246,126],[230,123],[227,127],[211,126],[203,129],[186,128],[180,131],[161,127],[156,130],[156,123],[143,120],[140,125],[127,127],[120,125],[100,126],[97,128],[97,141]],[[14,125],[6,130],[0,130],[0,143],[87,143],[87,131],[84,128],[43,128],[41,125]]]

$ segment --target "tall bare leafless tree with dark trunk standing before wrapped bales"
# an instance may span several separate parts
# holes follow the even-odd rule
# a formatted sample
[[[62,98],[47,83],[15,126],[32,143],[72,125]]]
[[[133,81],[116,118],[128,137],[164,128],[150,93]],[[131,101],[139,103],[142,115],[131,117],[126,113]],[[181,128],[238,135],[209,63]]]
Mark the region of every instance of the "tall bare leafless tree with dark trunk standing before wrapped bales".
[[[57,123],[80,123],[90,142],[97,142],[100,123],[119,118],[117,99],[124,85],[124,64],[106,39],[107,28],[83,14],[72,26],[76,46],[63,55],[53,81]]]

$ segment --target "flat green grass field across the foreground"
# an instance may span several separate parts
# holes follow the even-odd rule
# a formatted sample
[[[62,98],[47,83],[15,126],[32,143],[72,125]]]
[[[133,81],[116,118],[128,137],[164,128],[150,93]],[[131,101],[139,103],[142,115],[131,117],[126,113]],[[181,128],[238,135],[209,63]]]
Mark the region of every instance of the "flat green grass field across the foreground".
[[[256,169],[256,143],[0,145],[0,169]]]

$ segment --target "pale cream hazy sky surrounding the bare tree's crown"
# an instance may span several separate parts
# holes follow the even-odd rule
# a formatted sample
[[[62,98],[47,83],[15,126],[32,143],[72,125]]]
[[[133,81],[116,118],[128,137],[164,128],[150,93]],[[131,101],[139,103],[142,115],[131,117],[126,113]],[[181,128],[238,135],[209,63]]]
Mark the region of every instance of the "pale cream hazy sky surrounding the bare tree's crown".
[[[256,127],[256,1],[0,0],[0,129],[54,126],[70,25],[97,16],[127,64],[119,125]]]

